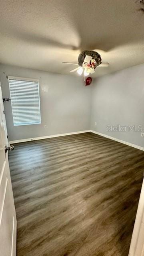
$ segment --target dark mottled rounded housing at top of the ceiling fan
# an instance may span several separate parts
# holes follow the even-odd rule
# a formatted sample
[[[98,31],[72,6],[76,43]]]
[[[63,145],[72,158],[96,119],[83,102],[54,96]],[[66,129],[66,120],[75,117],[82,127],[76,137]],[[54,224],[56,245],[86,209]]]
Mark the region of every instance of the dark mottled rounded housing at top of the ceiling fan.
[[[84,62],[84,59],[86,55],[91,56],[97,63],[96,66],[99,66],[101,64],[102,58],[98,52],[95,51],[83,51],[78,56],[78,65],[82,67],[82,64]],[[95,67],[96,68],[96,67]]]

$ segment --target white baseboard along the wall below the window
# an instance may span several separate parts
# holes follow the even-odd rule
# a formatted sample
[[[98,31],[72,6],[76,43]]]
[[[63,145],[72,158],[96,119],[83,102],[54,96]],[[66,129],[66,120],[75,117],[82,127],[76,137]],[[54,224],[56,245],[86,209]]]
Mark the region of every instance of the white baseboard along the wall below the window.
[[[72,135],[72,134],[80,134],[80,133],[85,133],[85,132],[91,132],[91,131],[90,130],[84,130],[84,131],[79,131],[79,132],[68,132],[68,133],[48,135],[48,136],[42,136],[42,137],[36,137],[36,138],[27,138],[27,139],[22,139],[22,140],[12,140],[12,141],[10,141],[10,144],[32,141],[32,140],[43,140],[43,139],[48,139],[48,138],[55,138],[55,137]]]

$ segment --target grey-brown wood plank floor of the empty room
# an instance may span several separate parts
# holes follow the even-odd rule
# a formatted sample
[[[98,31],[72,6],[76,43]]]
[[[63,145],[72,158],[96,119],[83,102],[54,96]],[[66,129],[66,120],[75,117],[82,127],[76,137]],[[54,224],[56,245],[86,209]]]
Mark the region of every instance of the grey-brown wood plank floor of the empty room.
[[[85,133],[15,144],[17,256],[128,256],[144,152]]]

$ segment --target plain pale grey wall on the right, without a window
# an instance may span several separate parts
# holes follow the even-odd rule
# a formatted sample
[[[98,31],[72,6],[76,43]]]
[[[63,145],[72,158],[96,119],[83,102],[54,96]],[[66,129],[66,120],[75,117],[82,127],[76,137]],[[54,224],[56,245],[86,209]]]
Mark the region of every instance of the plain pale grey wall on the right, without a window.
[[[100,77],[92,86],[91,129],[144,147],[141,132],[106,131],[106,125],[118,124],[142,125],[144,132],[144,64]]]

